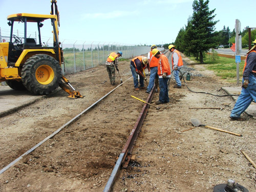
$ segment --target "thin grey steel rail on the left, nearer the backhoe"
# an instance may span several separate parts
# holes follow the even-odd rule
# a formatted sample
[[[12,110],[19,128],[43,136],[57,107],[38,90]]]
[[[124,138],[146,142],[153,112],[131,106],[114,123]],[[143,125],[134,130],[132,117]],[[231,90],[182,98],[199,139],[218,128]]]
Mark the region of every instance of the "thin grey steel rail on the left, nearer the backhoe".
[[[128,78],[127,80],[131,79],[133,76],[131,76],[130,78]],[[127,81],[126,80],[126,81]],[[124,82],[126,82],[124,81]],[[124,83],[123,82],[123,83]],[[119,86],[121,86],[123,83],[119,84]],[[81,113],[79,113],[77,116],[75,116],[73,119],[71,119],[70,121],[68,121],[67,123],[63,124],[61,127],[59,127],[59,129],[57,129],[55,132],[53,132],[51,135],[49,135],[48,137],[46,137],[44,140],[42,140],[41,142],[37,143],[35,146],[33,146],[32,148],[30,148],[30,150],[28,150],[27,152],[25,152],[23,155],[19,156],[17,159],[15,159],[14,161],[12,161],[11,163],[9,163],[7,166],[5,166],[4,168],[2,168],[0,170],[0,175],[3,174],[7,169],[9,169],[11,166],[13,166],[15,163],[17,163],[20,159],[23,158],[23,156],[30,154],[31,152],[33,152],[37,147],[39,147],[41,144],[43,144],[44,142],[46,142],[48,139],[52,138],[53,136],[55,136],[57,133],[59,133],[63,128],[65,128],[66,126],[70,125],[73,121],[75,121],[78,117],[80,117],[82,114],[86,113],[88,110],[90,110],[91,108],[93,108],[98,102],[100,102],[102,99],[104,99],[105,97],[107,97],[108,95],[110,95],[113,91],[115,91],[119,86],[117,86],[115,89],[111,90],[109,93],[105,94],[103,97],[101,97],[99,100],[97,100],[96,102],[94,102],[93,104],[91,104],[87,109],[83,110]]]

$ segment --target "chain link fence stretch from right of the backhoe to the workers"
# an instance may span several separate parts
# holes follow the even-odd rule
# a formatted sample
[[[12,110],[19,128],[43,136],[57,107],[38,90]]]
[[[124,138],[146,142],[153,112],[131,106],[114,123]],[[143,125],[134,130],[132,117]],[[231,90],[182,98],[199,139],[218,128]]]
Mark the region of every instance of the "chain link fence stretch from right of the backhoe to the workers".
[[[111,52],[121,51],[121,59],[128,59],[138,55],[146,54],[149,46],[127,46],[117,44],[105,45],[92,42],[91,44],[61,44],[65,57],[65,68],[63,74],[76,73],[98,65],[104,65],[106,58]],[[66,47],[66,48],[65,48]]]

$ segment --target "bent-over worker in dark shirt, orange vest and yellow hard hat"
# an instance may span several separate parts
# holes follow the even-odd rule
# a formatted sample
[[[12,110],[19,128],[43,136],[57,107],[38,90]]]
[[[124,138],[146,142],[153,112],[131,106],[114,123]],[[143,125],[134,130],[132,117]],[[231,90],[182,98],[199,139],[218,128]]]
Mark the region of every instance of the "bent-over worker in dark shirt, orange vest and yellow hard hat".
[[[146,87],[144,87],[144,80],[146,80],[146,76],[144,73],[144,69],[147,68],[148,71],[150,71],[150,67],[148,67],[148,60],[144,56],[137,56],[131,60],[130,65],[132,74],[133,74],[133,83],[134,83],[134,89],[136,91],[143,89],[145,90]],[[140,77],[140,89],[139,89],[139,82],[138,82],[138,75]]]

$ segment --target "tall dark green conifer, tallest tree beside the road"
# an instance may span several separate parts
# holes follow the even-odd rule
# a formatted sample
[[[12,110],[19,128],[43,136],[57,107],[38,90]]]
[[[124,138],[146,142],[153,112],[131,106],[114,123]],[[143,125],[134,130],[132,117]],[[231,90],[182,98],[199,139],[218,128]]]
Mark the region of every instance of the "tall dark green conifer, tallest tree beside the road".
[[[194,0],[193,16],[188,21],[186,37],[190,46],[190,51],[197,55],[199,54],[200,63],[203,63],[203,53],[210,48],[215,48],[218,45],[216,41],[215,25],[218,21],[214,21],[214,10],[209,10],[209,0]]]

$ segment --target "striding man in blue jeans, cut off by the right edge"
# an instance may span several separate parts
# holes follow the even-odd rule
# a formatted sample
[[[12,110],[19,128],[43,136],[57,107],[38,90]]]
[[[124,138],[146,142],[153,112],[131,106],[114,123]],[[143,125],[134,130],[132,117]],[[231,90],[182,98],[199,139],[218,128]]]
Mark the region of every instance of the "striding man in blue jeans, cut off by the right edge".
[[[252,42],[254,46],[248,51],[244,63],[242,91],[230,114],[232,120],[244,121],[241,114],[252,100],[256,101],[256,39]]]

